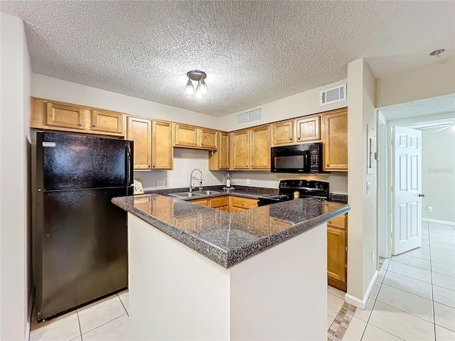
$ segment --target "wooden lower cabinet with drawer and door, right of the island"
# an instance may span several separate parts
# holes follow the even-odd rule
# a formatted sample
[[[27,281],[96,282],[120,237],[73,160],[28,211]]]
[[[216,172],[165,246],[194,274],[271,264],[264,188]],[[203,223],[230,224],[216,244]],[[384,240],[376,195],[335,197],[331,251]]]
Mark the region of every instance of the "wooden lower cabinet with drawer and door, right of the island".
[[[342,291],[348,289],[348,215],[327,222],[327,281]]]

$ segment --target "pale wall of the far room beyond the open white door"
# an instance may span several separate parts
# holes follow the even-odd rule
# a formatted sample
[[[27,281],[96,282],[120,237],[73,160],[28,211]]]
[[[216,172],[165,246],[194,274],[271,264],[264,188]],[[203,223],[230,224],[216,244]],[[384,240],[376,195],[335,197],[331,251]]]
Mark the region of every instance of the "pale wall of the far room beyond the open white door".
[[[455,224],[455,128],[438,129],[422,129],[422,218]]]

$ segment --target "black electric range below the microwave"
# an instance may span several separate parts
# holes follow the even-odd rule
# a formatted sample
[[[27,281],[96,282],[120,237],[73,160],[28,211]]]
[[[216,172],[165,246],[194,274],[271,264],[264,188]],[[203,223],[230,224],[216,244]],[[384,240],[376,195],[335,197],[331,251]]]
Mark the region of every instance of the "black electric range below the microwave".
[[[258,206],[276,204],[277,202],[293,200],[294,193],[298,192],[299,197],[312,200],[328,200],[330,191],[328,183],[315,180],[281,180],[279,182],[278,195],[266,195],[259,197]]]

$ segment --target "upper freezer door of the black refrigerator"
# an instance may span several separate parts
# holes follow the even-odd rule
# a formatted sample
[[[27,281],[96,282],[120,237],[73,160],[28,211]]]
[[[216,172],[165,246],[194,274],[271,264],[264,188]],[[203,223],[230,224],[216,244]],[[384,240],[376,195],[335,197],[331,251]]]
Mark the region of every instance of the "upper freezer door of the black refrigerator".
[[[36,188],[119,187],[132,184],[132,141],[36,133]]]

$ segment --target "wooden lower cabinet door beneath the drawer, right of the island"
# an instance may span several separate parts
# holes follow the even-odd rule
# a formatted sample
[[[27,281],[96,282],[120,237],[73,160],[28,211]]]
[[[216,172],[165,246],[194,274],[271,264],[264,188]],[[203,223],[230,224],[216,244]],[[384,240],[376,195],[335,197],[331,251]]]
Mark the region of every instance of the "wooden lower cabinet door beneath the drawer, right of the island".
[[[327,226],[327,276],[346,282],[346,231]]]

